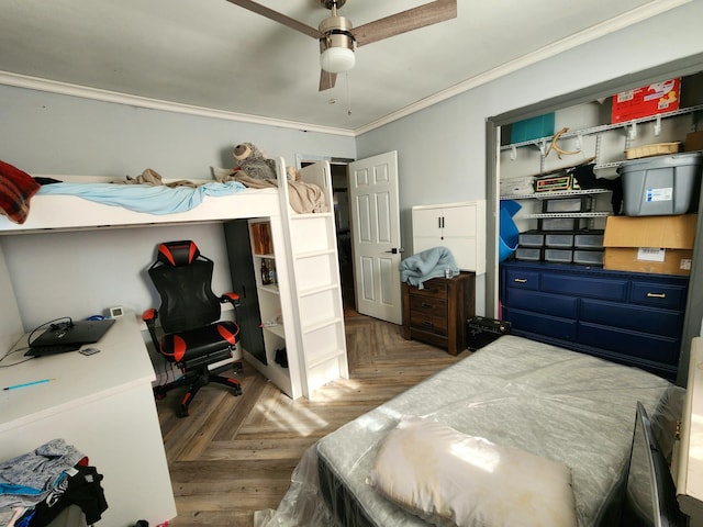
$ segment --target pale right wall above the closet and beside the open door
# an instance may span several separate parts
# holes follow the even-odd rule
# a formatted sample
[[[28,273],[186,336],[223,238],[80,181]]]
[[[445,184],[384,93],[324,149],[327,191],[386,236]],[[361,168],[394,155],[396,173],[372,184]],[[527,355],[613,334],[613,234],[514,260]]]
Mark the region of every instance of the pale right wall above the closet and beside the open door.
[[[701,20],[694,0],[357,137],[359,158],[398,150],[403,246],[412,205],[486,198],[488,117],[701,54]],[[477,291],[479,313],[482,300]]]

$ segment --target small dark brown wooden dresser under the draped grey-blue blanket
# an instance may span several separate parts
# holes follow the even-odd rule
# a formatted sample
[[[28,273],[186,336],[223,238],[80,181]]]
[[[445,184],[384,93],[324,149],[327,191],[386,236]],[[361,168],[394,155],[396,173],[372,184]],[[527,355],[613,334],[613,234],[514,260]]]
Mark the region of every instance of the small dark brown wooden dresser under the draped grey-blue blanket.
[[[432,344],[451,355],[467,349],[468,318],[476,310],[476,273],[433,278],[423,289],[403,282],[403,338]]]

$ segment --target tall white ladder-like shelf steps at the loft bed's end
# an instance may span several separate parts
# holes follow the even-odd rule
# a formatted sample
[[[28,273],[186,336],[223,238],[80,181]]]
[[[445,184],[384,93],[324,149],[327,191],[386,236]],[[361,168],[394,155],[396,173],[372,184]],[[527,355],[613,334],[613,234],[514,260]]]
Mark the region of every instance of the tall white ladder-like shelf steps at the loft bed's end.
[[[286,173],[286,167],[278,167]],[[303,168],[300,180],[322,189],[327,212],[295,214],[286,200],[286,243],[290,255],[291,301],[299,323],[297,339],[298,367],[302,394],[313,397],[316,389],[335,379],[348,379],[342,280],[337,257],[336,227],[328,162]],[[277,262],[278,266],[278,262]],[[287,338],[290,344],[291,338]],[[289,363],[291,357],[289,355]]]

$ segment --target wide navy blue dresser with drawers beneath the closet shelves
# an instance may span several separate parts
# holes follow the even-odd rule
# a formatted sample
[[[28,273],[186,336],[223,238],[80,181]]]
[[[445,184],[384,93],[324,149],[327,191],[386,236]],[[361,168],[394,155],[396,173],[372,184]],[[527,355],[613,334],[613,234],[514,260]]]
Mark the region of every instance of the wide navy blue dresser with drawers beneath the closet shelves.
[[[513,333],[676,380],[687,277],[543,262],[501,265]]]

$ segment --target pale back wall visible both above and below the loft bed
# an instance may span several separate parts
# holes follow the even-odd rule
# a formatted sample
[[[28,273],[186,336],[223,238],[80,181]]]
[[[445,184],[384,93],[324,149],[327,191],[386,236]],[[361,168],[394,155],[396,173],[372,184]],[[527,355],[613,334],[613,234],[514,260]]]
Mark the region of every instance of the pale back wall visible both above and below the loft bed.
[[[353,137],[7,86],[0,86],[0,159],[32,175],[122,179],[152,168],[164,178],[202,179],[211,166],[233,167],[232,148],[247,141],[289,165],[297,154],[356,157]],[[215,261],[213,290],[230,290],[222,226],[210,224],[0,236],[12,280],[12,288],[0,283],[0,292],[3,301],[5,290],[16,296],[24,330],[59,316],[102,314],[113,305],[140,313],[158,305],[146,268],[156,245],[172,239],[193,239]],[[0,345],[15,333],[0,327]]]

